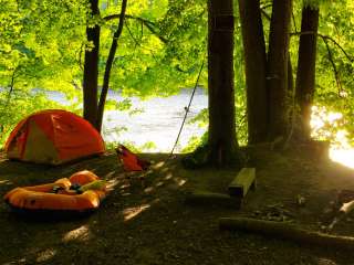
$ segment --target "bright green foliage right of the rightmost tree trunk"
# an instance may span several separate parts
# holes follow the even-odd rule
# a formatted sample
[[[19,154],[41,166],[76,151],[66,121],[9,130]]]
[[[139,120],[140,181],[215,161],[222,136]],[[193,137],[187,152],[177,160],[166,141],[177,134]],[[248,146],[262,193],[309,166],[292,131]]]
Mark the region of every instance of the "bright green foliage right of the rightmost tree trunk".
[[[322,38],[317,40],[317,62],[316,62],[316,104],[325,106],[326,112],[342,113],[343,119],[335,126],[332,125],[333,134],[326,139],[333,138],[340,130],[346,130],[353,139],[354,129],[354,105],[353,105],[353,74],[354,74],[354,4],[352,1],[335,1],[331,9],[320,8],[319,32],[331,36],[345,52],[350,59],[341,51],[332,40],[326,40],[327,46]],[[330,60],[330,53],[334,66]],[[335,67],[335,68],[334,68]],[[339,73],[339,82],[334,72]]]

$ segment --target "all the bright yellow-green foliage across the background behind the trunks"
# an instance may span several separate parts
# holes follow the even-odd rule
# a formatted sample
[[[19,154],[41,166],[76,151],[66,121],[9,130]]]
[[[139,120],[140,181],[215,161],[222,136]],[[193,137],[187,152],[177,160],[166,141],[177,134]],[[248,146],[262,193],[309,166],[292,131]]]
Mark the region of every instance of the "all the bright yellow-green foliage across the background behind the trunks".
[[[333,41],[326,40],[339,72],[337,83],[327,47],[319,38],[315,104],[325,106],[327,112],[341,112],[343,123],[339,123],[337,130],[346,129],[352,132],[354,2],[294,1],[292,31],[300,31],[301,9],[309,4],[320,7],[319,32],[335,40],[352,59],[348,60]],[[87,0],[0,0],[0,142],[14,125],[30,113],[42,108],[63,107],[50,102],[42,93],[32,93],[33,88],[63,92],[70,100],[65,108],[81,114],[87,7]],[[103,73],[113,33],[118,24],[117,19],[104,18],[118,14],[121,1],[103,0],[100,7],[101,17],[90,18],[88,23],[98,23],[102,28],[100,73]],[[271,8],[267,8],[266,12],[271,14]],[[183,87],[192,87],[200,65],[207,57],[207,2],[128,1],[126,13],[128,15],[113,64],[111,88],[122,92],[123,96],[149,98],[174,95]],[[235,96],[238,138],[243,145],[247,139],[246,92],[237,4],[235,14]],[[267,42],[267,19],[263,19],[263,24]],[[292,36],[290,54],[294,73],[298,46],[299,36]],[[207,87],[207,78],[205,66],[199,85]],[[102,82],[100,80],[100,85]],[[11,87],[13,92],[9,97]],[[107,100],[106,104],[106,109],[128,110],[132,115],[142,112],[139,108],[132,108],[128,99],[118,104]],[[191,120],[204,127],[207,121],[207,109]],[[204,139],[192,138],[184,151],[192,150],[205,142],[205,139],[206,136]],[[152,145],[148,146],[153,148]]]

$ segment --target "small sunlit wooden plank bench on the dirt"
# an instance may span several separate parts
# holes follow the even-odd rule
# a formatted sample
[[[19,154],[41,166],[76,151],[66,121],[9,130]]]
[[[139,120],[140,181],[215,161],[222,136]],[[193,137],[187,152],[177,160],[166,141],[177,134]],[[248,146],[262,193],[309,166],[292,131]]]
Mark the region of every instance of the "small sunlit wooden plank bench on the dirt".
[[[229,184],[229,194],[230,197],[243,198],[252,187],[256,189],[256,169],[242,168]]]

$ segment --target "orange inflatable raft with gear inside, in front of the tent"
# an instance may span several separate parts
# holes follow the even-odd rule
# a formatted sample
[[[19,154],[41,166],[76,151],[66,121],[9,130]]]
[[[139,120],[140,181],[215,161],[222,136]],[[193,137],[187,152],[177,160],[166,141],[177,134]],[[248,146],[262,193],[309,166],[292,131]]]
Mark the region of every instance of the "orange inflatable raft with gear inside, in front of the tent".
[[[97,209],[105,195],[104,182],[84,170],[54,183],[15,188],[4,195],[4,200],[18,212],[86,213]]]

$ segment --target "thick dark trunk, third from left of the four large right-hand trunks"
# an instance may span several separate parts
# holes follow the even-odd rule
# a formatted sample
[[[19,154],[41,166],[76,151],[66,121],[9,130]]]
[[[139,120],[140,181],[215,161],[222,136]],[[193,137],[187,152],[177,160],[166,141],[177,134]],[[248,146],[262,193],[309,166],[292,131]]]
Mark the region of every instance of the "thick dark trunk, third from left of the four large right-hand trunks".
[[[288,50],[292,0],[273,0],[268,52],[269,138],[289,129]]]

